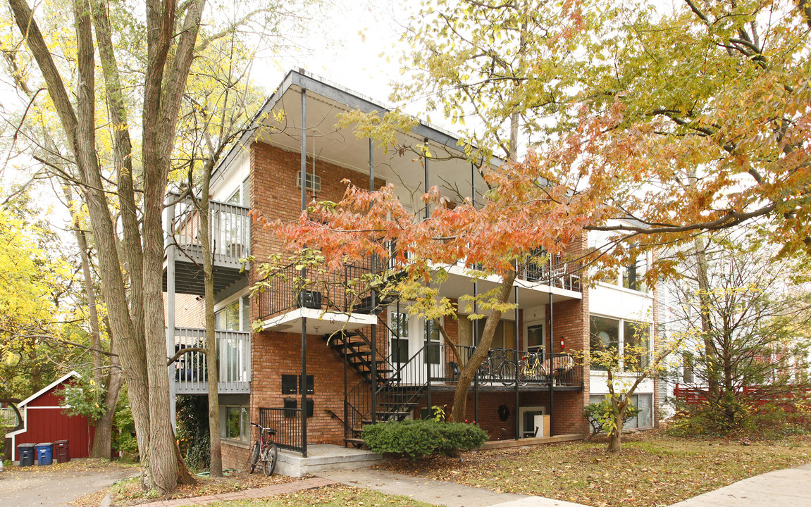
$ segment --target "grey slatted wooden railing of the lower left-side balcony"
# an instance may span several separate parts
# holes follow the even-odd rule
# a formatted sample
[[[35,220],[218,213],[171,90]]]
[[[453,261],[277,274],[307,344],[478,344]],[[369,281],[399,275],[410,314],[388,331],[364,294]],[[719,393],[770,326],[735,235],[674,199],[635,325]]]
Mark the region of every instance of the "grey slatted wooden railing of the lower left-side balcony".
[[[247,393],[251,381],[251,333],[242,331],[216,331],[217,358],[219,359],[220,393]],[[174,331],[174,349],[205,347],[205,330],[178,327]],[[174,364],[174,379],[178,394],[204,394],[208,392],[206,355],[190,351]]]

